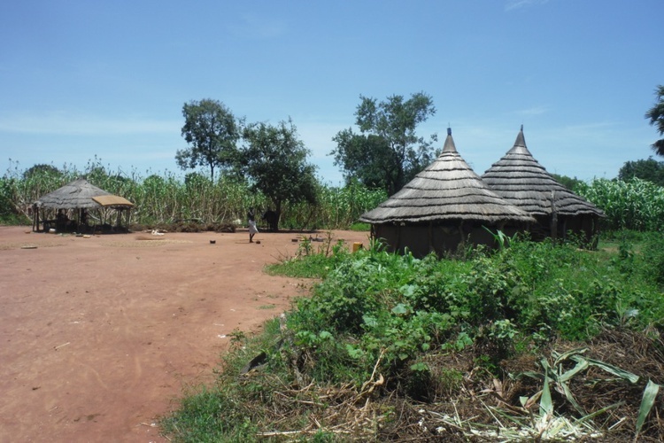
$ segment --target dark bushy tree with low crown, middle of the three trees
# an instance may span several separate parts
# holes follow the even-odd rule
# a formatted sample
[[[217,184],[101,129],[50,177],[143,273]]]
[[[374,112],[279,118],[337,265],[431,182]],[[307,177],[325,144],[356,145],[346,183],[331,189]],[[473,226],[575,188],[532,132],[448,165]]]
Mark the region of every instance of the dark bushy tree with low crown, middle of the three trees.
[[[284,202],[315,203],[316,167],[306,162],[310,152],[292,120],[277,126],[252,123],[244,128],[243,139],[243,173],[253,189],[272,201],[277,226]]]

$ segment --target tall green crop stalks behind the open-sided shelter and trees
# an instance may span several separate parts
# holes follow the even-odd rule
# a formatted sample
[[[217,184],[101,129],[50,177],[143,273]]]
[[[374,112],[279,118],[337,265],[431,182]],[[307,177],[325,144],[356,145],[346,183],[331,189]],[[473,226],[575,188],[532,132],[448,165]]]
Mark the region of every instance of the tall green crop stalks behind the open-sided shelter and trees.
[[[136,171],[111,171],[96,157],[82,171],[69,167],[22,171],[15,164],[0,177],[0,221],[29,223],[28,209],[37,198],[80,177],[134,203],[132,222],[143,225],[188,219],[233,222],[243,220],[247,208],[256,207],[260,212],[271,203],[262,192],[251,189],[250,183],[235,175],[223,174],[212,182],[198,172],[182,179],[169,172],[157,175],[148,171],[143,178]],[[282,225],[290,229],[347,229],[360,214],[387,198],[384,191],[368,190],[357,182],[342,188],[316,183],[315,194],[314,203],[286,202],[282,207]]]

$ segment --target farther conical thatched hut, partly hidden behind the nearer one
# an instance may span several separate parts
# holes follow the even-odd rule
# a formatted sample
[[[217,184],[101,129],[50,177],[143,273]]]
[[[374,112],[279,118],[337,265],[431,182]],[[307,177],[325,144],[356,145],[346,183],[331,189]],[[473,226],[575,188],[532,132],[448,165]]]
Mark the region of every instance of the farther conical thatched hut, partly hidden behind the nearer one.
[[[523,126],[512,149],[482,175],[484,183],[513,206],[532,215],[533,239],[566,237],[569,232],[592,245],[604,213],[567,190],[540,165],[526,147]]]

